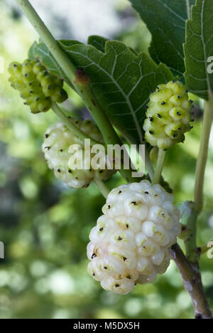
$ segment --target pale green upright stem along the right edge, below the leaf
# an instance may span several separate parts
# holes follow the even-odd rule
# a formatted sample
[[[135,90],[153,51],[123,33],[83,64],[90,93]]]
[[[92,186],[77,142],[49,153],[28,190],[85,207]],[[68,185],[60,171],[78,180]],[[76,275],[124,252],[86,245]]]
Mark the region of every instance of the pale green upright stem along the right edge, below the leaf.
[[[204,174],[207,165],[209,137],[212,128],[213,119],[213,96],[210,96],[209,101],[205,101],[204,105],[204,120],[202,128],[202,137],[200,142],[200,152],[197,158],[197,168],[195,175],[195,208],[198,213],[203,207],[203,188]]]

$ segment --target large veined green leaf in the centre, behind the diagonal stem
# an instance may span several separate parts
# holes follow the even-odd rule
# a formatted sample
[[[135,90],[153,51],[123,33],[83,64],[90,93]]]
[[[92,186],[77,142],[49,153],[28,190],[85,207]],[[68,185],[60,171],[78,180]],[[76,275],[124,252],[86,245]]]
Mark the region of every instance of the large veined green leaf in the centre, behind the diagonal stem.
[[[119,41],[107,41],[104,53],[90,45],[64,47],[61,42],[60,45],[76,68],[89,75],[94,96],[111,122],[125,137],[142,142],[145,105],[151,90],[173,79],[170,70],[163,64],[156,65],[144,53],[136,56]],[[50,64],[48,69],[52,71],[50,53],[44,52],[44,46],[39,46],[38,53],[42,63]]]

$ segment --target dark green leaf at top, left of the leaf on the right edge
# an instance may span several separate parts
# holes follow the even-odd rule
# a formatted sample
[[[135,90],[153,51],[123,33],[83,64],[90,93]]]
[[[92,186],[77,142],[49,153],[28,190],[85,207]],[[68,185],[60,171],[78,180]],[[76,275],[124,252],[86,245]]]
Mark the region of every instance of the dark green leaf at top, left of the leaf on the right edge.
[[[185,72],[182,44],[185,21],[195,0],[129,0],[152,34],[151,57],[165,63],[174,75]]]

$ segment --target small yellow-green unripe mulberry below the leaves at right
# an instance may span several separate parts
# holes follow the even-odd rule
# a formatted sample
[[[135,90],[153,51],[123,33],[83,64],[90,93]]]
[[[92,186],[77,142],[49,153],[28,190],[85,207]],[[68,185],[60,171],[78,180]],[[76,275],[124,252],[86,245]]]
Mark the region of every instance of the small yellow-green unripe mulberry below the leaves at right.
[[[192,100],[188,99],[187,90],[180,81],[159,85],[146,108],[143,129],[149,144],[168,149],[175,143],[184,142],[184,133],[192,128]]]

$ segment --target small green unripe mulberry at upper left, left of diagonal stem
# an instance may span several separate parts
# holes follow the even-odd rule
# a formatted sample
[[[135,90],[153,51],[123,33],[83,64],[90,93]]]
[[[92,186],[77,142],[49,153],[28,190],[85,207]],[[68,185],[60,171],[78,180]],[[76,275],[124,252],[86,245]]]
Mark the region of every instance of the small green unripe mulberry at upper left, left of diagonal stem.
[[[67,93],[62,88],[63,81],[50,75],[37,60],[26,59],[23,63],[9,65],[11,86],[20,91],[26,100],[25,105],[31,107],[31,112],[47,112],[52,101],[64,102]]]

